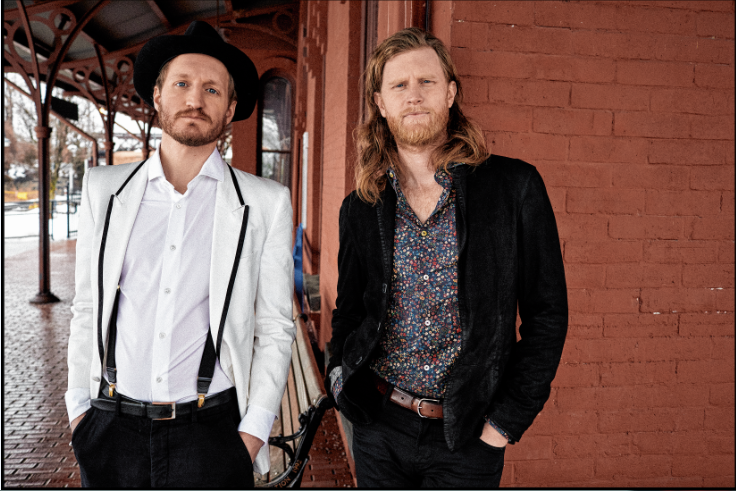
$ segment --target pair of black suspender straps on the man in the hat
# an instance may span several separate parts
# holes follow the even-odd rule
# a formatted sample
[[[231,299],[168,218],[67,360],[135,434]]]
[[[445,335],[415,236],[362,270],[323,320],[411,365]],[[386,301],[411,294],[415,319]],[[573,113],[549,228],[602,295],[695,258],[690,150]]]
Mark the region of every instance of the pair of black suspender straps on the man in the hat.
[[[105,364],[105,344],[102,340],[102,306],[103,306],[103,300],[104,300],[104,291],[103,291],[103,265],[104,265],[104,258],[105,258],[105,243],[107,241],[107,231],[110,226],[110,215],[112,214],[112,205],[115,201],[115,197],[120,194],[120,192],[123,190],[123,188],[128,184],[130,179],[135,175],[136,172],[143,166],[143,162],[141,162],[138,167],[136,167],[133,172],[128,176],[128,178],[125,180],[122,186],[120,186],[120,189],[118,191],[110,196],[110,202],[107,205],[107,214],[105,216],[105,226],[102,232],[102,241],[100,243],[100,256],[99,256],[99,265],[98,265],[98,291],[99,291],[99,299],[98,299],[98,313],[97,313],[97,341],[98,341],[98,350],[100,353],[100,364]],[[243,201],[243,195],[240,192],[240,186],[238,185],[238,180],[235,177],[235,171],[233,168],[228,165],[228,169],[230,170],[230,175],[233,179],[233,184],[235,185],[235,192],[238,194],[238,200],[240,201],[241,206],[245,205],[245,201]],[[199,372],[197,374],[197,406],[202,407],[204,404],[205,396],[207,395],[207,392],[209,391],[210,384],[212,383],[212,376],[215,373],[215,364],[217,359],[220,357],[220,347],[222,345],[222,332],[225,329],[225,320],[227,319],[227,313],[230,307],[230,299],[232,298],[233,294],[233,287],[235,285],[235,277],[238,273],[238,265],[240,264],[240,255],[243,252],[243,243],[245,242],[245,231],[248,228],[248,210],[249,207],[245,206],[245,209],[243,210],[243,222],[240,225],[240,236],[238,237],[238,248],[235,253],[235,261],[233,262],[233,269],[230,273],[230,282],[227,285],[227,292],[225,294],[225,305],[222,309],[222,316],[220,317],[220,330],[217,335],[217,346],[215,346],[214,341],[212,340],[212,331],[210,330],[209,326],[207,329],[207,341],[204,345],[204,352],[202,353],[202,360],[199,364]],[[117,368],[115,365],[115,341],[117,338],[117,317],[118,317],[118,303],[120,300],[120,285],[118,285],[117,292],[115,292],[115,301],[113,303],[112,313],[110,315],[110,322],[109,322],[109,329],[108,329],[108,346],[107,346],[107,363],[106,363],[106,372],[107,372],[107,379],[109,382],[109,393],[108,395],[110,397],[113,397],[114,390],[115,390],[115,384],[117,383]]]

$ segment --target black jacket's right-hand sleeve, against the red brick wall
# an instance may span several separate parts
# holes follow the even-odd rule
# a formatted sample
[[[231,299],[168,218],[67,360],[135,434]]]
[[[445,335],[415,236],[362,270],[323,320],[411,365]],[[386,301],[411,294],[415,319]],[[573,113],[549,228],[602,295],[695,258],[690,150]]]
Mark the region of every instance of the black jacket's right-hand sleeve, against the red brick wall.
[[[557,224],[544,182],[534,170],[518,217],[518,307],[514,345],[489,419],[517,441],[549,398],[567,334],[567,286]]]

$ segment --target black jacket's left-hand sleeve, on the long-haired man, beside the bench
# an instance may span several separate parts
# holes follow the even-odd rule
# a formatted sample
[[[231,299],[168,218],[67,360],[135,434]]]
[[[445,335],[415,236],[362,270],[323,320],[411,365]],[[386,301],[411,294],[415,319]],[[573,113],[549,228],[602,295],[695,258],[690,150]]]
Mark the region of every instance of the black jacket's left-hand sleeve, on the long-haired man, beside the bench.
[[[325,370],[325,389],[330,398],[332,387],[330,373],[332,369],[342,366],[343,348],[345,339],[357,329],[366,317],[363,294],[365,293],[367,276],[361,265],[360,255],[351,231],[351,206],[357,206],[354,200],[358,198],[351,194],[340,207],[340,248],[337,254],[337,299],[332,311],[332,350],[330,362]],[[333,399],[333,403],[334,403]]]

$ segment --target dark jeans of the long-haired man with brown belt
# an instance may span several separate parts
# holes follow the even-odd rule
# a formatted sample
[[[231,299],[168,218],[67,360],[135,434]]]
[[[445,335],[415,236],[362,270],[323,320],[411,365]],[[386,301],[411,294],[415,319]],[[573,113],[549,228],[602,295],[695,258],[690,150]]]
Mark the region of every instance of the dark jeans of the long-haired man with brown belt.
[[[358,486],[364,488],[497,488],[504,448],[480,439],[451,452],[443,421],[392,402],[369,425],[353,425]]]

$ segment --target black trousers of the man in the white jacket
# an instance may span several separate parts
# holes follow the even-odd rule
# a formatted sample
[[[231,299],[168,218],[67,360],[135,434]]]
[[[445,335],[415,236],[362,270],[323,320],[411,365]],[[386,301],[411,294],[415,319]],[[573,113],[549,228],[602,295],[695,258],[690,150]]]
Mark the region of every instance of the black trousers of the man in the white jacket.
[[[233,390],[233,389],[230,389]],[[168,421],[90,408],[72,434],[82,486],[253,488],[237,398]]]

